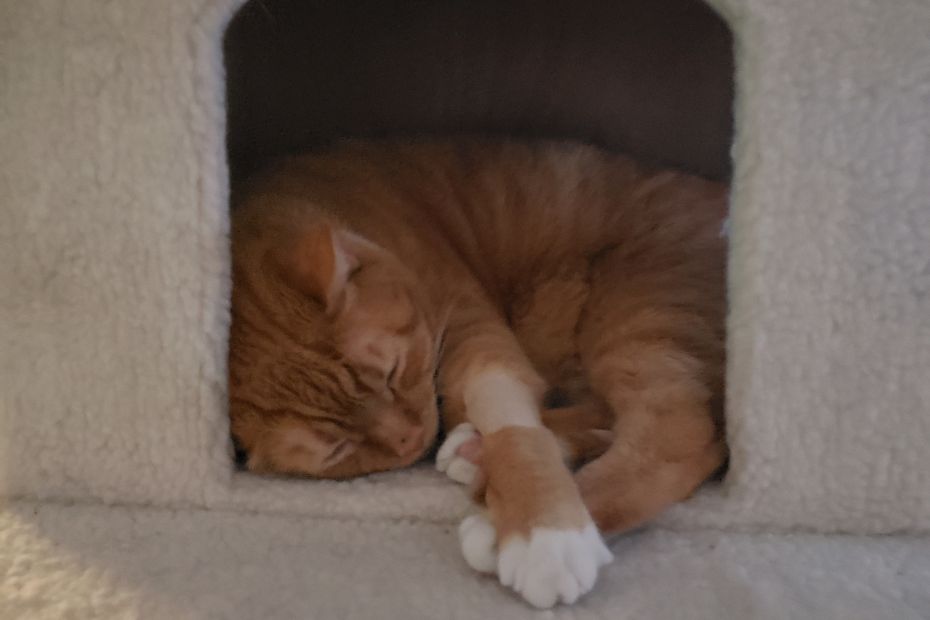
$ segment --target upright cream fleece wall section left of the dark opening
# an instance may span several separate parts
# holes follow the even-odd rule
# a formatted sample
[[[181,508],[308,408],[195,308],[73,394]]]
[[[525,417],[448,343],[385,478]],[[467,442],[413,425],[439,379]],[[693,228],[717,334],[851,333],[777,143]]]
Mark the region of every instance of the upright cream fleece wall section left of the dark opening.
[[[197,502],[228,469],[211,4],[0,8],[6,494]]]

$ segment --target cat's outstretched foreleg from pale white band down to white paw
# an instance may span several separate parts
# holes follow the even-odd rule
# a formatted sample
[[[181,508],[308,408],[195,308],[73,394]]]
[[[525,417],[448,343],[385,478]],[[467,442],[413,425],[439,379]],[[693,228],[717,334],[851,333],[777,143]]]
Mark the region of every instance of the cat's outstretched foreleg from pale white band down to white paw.
[[[482,435],[479,495],[487,505],[460,528],[466,561],[496,572],[537,607],[575,602],[612,556],[540,422],[533,390],[515,373],[491,368],[468,381],[464,400]]]

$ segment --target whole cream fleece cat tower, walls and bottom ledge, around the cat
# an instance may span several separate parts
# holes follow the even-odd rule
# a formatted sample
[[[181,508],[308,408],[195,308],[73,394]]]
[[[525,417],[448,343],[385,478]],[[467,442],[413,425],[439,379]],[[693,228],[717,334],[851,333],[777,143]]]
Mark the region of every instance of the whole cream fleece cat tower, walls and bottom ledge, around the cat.
[[[736,67],[729,472],[553,614],[930,617],[930,5],[710,4]],[[0,618],[530,617],[467,569],[467,498],[429,468],[234,465],[241,6],[0,7]]]

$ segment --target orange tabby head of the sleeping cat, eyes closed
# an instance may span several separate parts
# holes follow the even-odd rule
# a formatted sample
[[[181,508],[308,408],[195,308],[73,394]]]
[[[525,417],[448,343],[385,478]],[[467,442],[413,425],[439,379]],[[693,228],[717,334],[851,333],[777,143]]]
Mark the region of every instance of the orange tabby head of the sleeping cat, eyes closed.
[[[230,419],[247,467],[347,478],[419,459],[438,427],[441,318],[414,275],[333,222],[239,228]]]

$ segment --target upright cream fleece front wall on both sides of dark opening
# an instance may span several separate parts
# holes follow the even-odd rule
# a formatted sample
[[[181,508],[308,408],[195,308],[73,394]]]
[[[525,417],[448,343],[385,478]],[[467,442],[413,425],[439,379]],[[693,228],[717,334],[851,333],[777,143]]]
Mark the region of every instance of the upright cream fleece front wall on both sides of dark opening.
[[[930,529],[930,5],[718,0],[737,39],[731,472],[669,527]],[[449,523],[402,472],[234,474],[237,0],[0,4],[0,495]]]

